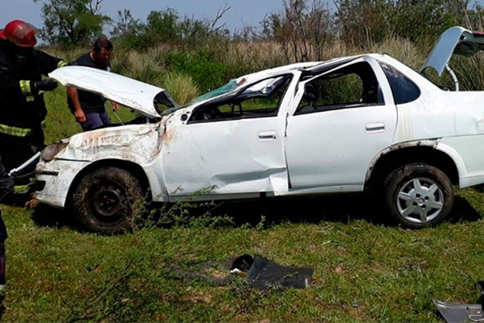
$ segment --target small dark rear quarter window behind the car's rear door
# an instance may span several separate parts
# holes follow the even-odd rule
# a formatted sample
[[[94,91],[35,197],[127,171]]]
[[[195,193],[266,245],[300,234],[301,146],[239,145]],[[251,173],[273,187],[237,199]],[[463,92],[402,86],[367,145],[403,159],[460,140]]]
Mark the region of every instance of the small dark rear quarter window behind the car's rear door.
[[[392,89],[395,104],[403,104],[416,100],[420,96],[420,89],[402,72],[384,62],[378,62],[387,77]]]

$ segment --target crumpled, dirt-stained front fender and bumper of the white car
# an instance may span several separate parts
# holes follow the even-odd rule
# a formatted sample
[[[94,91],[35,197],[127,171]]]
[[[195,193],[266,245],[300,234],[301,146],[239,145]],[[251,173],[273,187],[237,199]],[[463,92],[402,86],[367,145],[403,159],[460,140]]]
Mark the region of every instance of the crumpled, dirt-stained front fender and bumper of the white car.
[[[169,119],[169,118],[166,118]],[[123,160],[143,168],[148,178],[152,195],[164,199],[166,189],[159,184],[162,179],[157,167],[165,136],[162,122],[108,127],[72,136],[69,143],[53,160],[41,160],[37,165],[36,179],[45,181],[45,188],[38,192],[39,200],[54,206],[64,207],[68,191],[74,178],[84,168],[103,160]],[[55,173],[58,176],[42,173]],[[54,184],[55,183],[55,184]]]

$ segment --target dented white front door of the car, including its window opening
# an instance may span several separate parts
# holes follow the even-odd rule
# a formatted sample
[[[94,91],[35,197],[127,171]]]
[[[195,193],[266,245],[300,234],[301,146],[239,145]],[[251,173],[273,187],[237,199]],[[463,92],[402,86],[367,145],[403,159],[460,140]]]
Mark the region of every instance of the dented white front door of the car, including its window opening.
[[[256,196],[287,191],[283,143],[289,95],[284,94],[297,82],[292,75],[264,82],[268,86],[255,84],[167,122],[162,159],[168,195],[206,188]]]

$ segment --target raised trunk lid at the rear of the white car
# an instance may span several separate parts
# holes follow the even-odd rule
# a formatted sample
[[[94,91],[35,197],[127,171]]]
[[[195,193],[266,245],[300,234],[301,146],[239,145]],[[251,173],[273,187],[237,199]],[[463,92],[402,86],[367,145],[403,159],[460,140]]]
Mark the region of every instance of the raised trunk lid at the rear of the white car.
[[[440,35],[420,73],[432,67],[442,76],[453,54],[472,56],[479,50],[484,50],[484,33],[458,26],[451,27]]]

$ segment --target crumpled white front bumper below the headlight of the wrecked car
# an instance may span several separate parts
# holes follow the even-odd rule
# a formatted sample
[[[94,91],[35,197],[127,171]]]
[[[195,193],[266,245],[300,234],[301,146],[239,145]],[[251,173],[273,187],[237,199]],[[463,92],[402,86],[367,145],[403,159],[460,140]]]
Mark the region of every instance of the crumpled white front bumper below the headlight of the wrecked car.
[[[40,160],[35,170],[36,198],[42,203],[65,207],[74,178],[89,164],[89,161],[77,160]]]

